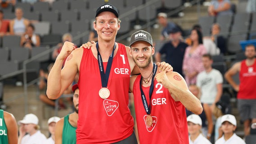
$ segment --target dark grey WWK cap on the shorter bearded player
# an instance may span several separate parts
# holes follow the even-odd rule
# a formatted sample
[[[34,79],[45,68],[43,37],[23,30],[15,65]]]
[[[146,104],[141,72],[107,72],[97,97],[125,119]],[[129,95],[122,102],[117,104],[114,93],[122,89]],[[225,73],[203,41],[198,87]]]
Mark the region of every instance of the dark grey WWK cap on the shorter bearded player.
[[[153,46],[153,40],[150,33],[140,30],[132,34],[131,40],[130,40],[130,46],[133,45],[137,41],[146,41],[151,46]]]

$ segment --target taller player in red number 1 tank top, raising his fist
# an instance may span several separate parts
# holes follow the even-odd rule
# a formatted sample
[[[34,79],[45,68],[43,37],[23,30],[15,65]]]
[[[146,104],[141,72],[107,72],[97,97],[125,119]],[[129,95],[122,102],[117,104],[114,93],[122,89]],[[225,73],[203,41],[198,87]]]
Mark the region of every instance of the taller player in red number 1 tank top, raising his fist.
[[[79,72],[77,144],[137,144],[128,108],[128,87],[131,73],[138,71],[128,54],[130,48],[115,42],[120,28],[118,17],[113,5],[101,5],[93,24],[98,43],[91,49],[75,49],[66,41],[48,76],[47,96],[57,99]],[[169,64],[161,64],[160,69],[165,68],[172,69]]]

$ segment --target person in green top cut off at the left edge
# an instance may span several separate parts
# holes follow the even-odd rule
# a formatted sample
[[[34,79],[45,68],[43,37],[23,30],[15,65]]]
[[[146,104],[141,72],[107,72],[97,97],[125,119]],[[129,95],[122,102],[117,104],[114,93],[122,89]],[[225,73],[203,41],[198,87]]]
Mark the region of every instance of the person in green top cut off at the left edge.
[[[0,144],[18,143],[18,126],[13,114],[0,109]]]

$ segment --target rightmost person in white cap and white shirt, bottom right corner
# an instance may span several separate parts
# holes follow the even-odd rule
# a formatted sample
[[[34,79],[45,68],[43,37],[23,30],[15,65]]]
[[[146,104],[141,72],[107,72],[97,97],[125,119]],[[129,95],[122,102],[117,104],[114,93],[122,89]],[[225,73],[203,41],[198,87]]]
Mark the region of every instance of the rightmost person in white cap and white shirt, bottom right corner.
[[[245,144],[239,136],[235,134],[237,128],[237,120],[231,114],[226,114],[221,117],[221,130],[224,135],[219,138],[215,144]]]

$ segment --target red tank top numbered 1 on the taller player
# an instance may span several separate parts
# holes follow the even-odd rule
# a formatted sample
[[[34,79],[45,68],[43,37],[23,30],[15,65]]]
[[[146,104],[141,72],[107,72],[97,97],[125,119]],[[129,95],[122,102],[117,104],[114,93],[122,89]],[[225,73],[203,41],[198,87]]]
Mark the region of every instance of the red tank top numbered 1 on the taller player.
[[[106,70],[107,62],[103,66]],[[128,108],[130,74],[126,48],[118,44],[108,81],[110,97],[101,99],[98,60],[90,49],[83,49],[78,82],[77,144],[110,144],[132,135],[134,123]]]

